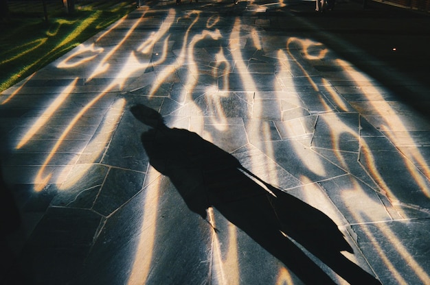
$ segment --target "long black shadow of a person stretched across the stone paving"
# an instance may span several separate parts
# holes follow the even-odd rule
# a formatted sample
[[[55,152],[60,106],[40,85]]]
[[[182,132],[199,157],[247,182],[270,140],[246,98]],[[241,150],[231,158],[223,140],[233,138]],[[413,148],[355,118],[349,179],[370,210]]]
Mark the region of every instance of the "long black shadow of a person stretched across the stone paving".
[[[170,178],[190,210],[207,218],[214,207],[283,262],[305,284],[335,284],[293,243],[299,243],[350,284],[381,284],[345,258],[353,253],[323,212],[267,184],[226,151],[186,129],[170,129],[144,105],[131,108],[151,128],[142,134],[150,164]]]

